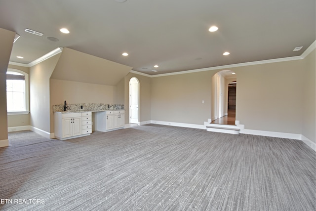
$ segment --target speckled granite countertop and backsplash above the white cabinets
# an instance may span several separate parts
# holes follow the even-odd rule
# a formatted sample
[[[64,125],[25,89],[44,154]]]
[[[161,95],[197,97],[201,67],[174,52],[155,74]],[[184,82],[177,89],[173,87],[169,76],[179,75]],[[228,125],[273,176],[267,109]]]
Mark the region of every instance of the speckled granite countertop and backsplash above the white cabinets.
[[[78,104],[67,104],[66,106],[68,107],[66,111],[64,111],[63,104],[53,105],[53,112],[73,113],[73,112],[98,112],[98,111],[124,110],[124,105],[121,105],[121,104],[78,103]]]

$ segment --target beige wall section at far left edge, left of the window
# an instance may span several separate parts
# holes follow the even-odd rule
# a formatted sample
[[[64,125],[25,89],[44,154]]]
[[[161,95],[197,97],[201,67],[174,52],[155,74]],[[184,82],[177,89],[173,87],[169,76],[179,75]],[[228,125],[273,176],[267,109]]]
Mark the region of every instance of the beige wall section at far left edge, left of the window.
[[[6,70],[9,64],[15,33],[0,28],[0,147],[7,146]]]

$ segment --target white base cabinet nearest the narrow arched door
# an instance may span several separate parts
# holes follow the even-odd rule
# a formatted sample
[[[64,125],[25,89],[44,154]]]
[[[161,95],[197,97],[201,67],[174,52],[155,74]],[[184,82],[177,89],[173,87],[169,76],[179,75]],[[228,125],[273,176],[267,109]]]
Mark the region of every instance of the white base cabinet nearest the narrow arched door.
[[[124,111],[103,111],[95,114],[95,130],[107,132],[124,127]]]

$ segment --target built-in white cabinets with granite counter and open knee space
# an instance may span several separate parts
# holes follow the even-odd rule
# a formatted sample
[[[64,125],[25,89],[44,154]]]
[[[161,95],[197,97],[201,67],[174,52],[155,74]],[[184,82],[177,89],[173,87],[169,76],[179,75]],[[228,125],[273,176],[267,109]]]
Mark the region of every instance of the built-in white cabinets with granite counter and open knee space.
[[[95,130],[107,132],[124,128],[123,105],[112,104],[69,104],[54,105],[54,134],[55,138],[66,140],[90,135],[92,124]],[[94,121],[92,120],[94,113]]]

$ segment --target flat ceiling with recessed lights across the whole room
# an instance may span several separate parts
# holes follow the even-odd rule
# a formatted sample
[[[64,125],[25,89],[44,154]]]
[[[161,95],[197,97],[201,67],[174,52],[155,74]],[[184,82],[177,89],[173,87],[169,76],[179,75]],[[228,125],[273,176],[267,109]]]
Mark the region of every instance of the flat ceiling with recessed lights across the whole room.
[[[157,75],[299,56],[316,40],[315,11],[315,0],[0,0],[0,28],[21,36],[11,62],[68,47]]]

